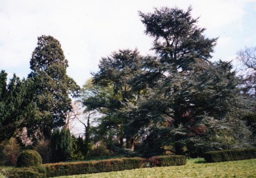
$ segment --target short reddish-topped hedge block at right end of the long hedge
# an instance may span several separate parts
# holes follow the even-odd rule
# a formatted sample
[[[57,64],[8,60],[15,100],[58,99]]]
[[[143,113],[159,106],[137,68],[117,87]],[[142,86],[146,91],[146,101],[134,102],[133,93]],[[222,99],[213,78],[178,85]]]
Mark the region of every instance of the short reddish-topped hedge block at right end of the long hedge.
[[[150,167],[155,166],[180,166],[185,165],[187,159],[182,155],[172,155],[172,156],[155,156],[149,158]]]

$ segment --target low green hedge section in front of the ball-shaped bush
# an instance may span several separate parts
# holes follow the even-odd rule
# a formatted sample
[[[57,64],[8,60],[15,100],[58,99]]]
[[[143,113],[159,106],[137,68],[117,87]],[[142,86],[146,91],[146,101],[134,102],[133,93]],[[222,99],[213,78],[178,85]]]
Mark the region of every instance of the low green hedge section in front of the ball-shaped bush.
[[[43,167],[37,168],[12,168],[7,171],[8,178],[46,178],[46,170]]]

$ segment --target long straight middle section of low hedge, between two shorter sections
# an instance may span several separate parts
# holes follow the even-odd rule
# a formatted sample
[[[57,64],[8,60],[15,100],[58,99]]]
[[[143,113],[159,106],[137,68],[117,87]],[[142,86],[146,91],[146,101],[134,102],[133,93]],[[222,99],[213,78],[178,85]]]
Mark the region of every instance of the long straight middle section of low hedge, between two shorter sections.
[[[91,162],[52,163],[43,166],[46,168],[47,177],[57,177],[142,168],[145,162],[143,158],[120,158]]]

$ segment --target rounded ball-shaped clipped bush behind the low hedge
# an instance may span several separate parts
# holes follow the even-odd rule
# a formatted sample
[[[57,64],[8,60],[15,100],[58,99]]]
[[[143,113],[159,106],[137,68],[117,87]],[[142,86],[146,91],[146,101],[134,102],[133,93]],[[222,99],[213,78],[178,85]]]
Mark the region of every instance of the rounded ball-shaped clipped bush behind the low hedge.
[[[42,164],[42,158],[35,150],[24,150],[17,160],[17,167],[39,166]]]

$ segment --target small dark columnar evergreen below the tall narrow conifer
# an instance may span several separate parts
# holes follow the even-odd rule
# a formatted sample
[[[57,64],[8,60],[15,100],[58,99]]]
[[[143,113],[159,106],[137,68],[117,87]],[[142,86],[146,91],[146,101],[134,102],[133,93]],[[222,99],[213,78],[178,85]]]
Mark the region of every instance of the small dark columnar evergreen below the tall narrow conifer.
[[[69,130],[62,128],[54,130],[51,138],[51,160],[52,162],[68,161],[71,150],[72,140]]]

